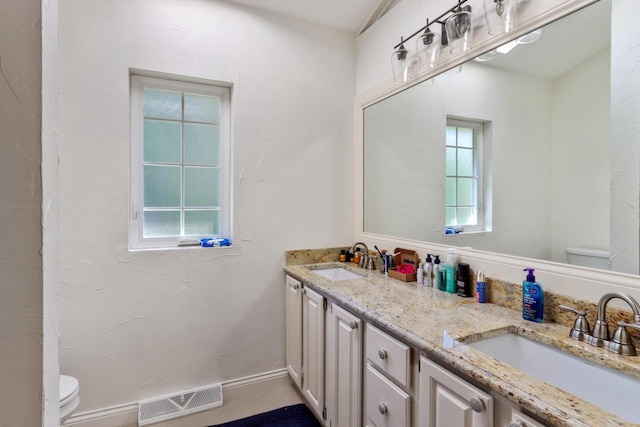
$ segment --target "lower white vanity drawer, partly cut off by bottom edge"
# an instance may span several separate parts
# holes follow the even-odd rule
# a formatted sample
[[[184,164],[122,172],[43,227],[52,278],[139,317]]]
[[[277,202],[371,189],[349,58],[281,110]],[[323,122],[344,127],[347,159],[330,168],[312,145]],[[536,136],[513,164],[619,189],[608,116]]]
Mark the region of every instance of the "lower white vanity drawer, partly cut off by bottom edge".
[[[367,425],[408,427],[411,397],[367,363]]]

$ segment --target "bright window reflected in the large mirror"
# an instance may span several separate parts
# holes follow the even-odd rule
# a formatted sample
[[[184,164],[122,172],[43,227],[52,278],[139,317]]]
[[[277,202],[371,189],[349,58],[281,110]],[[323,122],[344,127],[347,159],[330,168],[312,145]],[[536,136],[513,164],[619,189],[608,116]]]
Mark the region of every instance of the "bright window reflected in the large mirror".
[[[484,229],[482,212],[482,135],[479,122],[447,119],[447,227]]]

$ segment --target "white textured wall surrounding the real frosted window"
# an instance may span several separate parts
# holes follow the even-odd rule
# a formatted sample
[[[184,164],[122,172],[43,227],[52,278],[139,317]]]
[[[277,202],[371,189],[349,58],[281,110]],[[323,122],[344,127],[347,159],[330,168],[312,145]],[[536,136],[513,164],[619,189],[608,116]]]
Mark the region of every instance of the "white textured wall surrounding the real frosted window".
[[[284,252],[351,240],[355,36],[212,0],[60,4],[60,363],[79,411],[284,367]],[[233,82],[234,247],[127,250],[129,67]]]

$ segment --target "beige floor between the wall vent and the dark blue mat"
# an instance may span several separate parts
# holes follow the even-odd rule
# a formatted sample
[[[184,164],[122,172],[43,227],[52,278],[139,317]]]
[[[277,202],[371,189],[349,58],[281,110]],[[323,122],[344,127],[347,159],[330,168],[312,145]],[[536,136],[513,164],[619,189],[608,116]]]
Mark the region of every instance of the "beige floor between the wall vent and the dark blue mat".
[[[223,398],[224,405],[219,408],[154,424],[154,427],[204,427],[303,403],[298,390],[289,381],[280,381],[274,387],[242,398],[234,397],[233,392],[225,392]]]

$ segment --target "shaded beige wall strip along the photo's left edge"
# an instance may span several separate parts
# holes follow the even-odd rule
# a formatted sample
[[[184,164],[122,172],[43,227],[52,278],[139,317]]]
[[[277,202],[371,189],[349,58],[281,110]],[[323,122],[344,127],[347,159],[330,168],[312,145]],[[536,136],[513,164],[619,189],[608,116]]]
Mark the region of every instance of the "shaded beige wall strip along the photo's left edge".
[[[0,13],[0,426],[42,425],[41,2]]]

